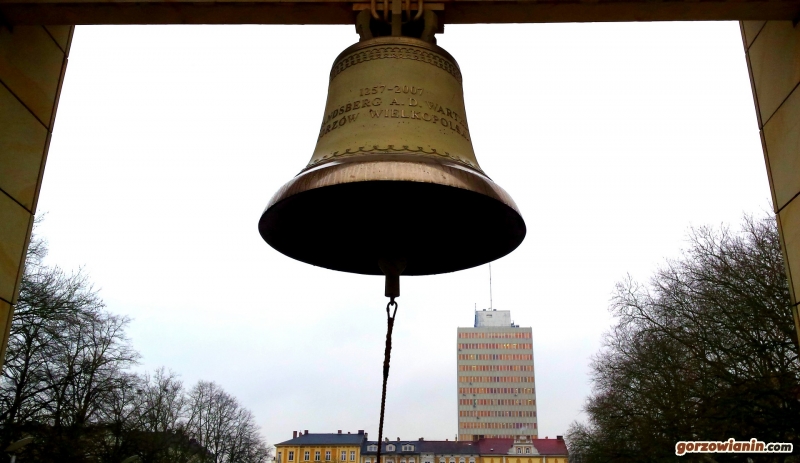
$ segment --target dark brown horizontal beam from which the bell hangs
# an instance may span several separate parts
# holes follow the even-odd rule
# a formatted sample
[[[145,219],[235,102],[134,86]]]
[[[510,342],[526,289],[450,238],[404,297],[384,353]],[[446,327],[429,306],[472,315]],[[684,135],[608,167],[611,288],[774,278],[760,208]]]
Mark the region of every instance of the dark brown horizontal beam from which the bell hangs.
[[[361,2],[0,0],[0,21],[33,24],[354,24]],[[797,20],[800,0],[449,0],[448,24]],[[355,8],[354,8],[355,7]]]

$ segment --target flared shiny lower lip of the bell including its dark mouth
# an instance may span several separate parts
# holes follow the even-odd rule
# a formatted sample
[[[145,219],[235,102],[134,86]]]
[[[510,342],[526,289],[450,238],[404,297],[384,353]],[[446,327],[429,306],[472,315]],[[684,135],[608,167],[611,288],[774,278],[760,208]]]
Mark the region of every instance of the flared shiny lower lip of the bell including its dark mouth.
[[[485,175],[416,155],[345,159],[302,172],[270,200],[262,238],[312,265],[382,275],[380,259],[405,259],[404,275],[475,267],[525,238],[511,197]]]

